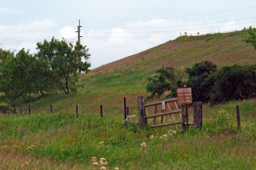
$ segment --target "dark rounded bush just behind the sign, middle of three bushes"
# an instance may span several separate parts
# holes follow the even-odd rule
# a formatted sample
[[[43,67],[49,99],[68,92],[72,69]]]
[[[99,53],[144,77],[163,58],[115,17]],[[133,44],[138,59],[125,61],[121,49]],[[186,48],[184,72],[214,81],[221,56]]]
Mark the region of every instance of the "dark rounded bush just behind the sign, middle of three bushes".
[[[194,102],[208,103],[210,100],[210,91],[214,87],[214,77],[212,73],[216,71],[216,65],[212,62],[199,62],[187,68],[189,74],[187,87],[192,88],[192,97]]]

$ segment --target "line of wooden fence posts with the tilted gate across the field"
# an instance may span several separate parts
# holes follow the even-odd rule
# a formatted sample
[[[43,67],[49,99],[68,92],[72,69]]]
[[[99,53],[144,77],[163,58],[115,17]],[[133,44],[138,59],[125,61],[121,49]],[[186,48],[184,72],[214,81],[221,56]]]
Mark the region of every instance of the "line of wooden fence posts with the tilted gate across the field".
[[[142,102],[139,102],[140,100]],[[139,125],[140,126],[147,125],[148,119],[154,118],[153,125],[151,125],[152,127],[159,127],[159,126],[165,126],[165,125],[175,125],[176,126],[177,124],[181,123],[182,128],[185,129],[184,125],[186,124],[186,122],[188,122],[188,120],[186,120],[186,118],[185,118],[184,106],[182,106],[182,110],[179,110],[179,108],[177,107],[177,103],[176,103],[177,98],[170,98],[170,99],[160,101],[160,102],[153,102],[153,103],[145,104],[144,97],[138,97],[137,102],[138,102],[138,114],[139,114],[138,117],[139,117]],[[172,102],[174,104],[175,108],[171,109],[170,104],[168,102]],[[157,111],[157,110],[159,110],[159,109],[157,109],[157,105],[160,105],[160,108],[162,108],[162,109],[160,109],[161,110],[160,113],[158,113],[158,111]],[[199,105],[199,106],[197,106],[197,105]],[[154,108],[151,115],[147,111],[147,108],[149,106],[153,106],[153,108]],[[76,104],[75,108],[76,108],[76,111],[75,111],[76,117],[78,118],[79,117],[79,104]],[[97,107],[83,107],[83,108],[93,108],[95,110],[99,110],[101,118],[103,118],[103,116],[104,116],[104,110],[117,110],[118,109],[117,107],[116,108],[104,108],[103,105],[100,105],[98,108]],[[167,110],[167,108],[169,108],[169,110]],[[200,128],[202,128],[202,102],[194,102],[193,108],[194,108],[194,123],[193,124],[198,125],[200,123]],[[119,109],[121,109],[121,108],[119,108]],[[7,116],[9,116],[11,114],[9,105],[7,105],[6,111],[7,111]],[[54,105],[52,103],[49,105],[49,111],[51,114],[54,113]],[[126,105],[126,97],[124,97],[124,110],[123,111],[124,111],[124,121],[126,122],[127,118],[131,115],[131,108]],[[31,104],[29,104],[28,105],[28,114],[31,115],[31,113],[32,113],[32,107],[31,107]],[[177,118],[174,118],[174,116],[173,116],[173,114],[175,114],[175,113],[177,113],[179,115]],[[181,113],[181,115],[180,115],[180,113]],[[167,115],[170,115],[170,118],[172,119],[172,121],[168,120]],[[195,121],[197,121],[196,120],[197,118],[195,118],[195,115],[200,115],[199,123],[195,122]],[[160,116],[160,118],[161,118],[159,125],[157,125],[155,123],[157,116]],[[166,117],[166,120],[167,120],[166,123],[163,122],[164,116]],[[209,117],[209,116],[204,116],[204,118],[215,119],[215,118]],[[232,117],[230,117],[229,119],[237,120],[237,128],[240,129],[241,123],[240,123],[239,105],[236,105],[236,119],[232,118]],[[177,126],[176,126],[176,128],[177,128]]]

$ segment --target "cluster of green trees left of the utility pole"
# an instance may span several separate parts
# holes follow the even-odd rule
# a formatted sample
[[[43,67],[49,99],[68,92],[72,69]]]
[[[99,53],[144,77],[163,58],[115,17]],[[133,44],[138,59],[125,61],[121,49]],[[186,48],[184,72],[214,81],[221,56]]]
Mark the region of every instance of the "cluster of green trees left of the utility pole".
[[[37,53],[24,49],[14,52],[0,49],[0,92],[6,102],[24,100],[30,95],[77,88],[79,71],[88,72],[91,64],[86,46],[66,40],[37,43]]]

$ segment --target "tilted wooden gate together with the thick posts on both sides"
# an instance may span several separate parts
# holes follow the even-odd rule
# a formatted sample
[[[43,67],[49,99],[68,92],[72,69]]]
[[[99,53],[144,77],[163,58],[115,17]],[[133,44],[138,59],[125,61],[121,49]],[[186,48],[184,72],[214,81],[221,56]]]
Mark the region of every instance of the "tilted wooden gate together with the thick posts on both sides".
[[[195,128],[202,128],[202,102],[194,102],[194,123],[187,120],[187,107],[179,105],[177,98],[169,98],[159,102],[145,104],[144,97],[138,97],[138,111],[140,126],[150,126],[156,128],[160,126],[182,125],[183,130],[187,130],[188,125],[195,125]],[[179,108],[181,107],[181,108]],[[188,124],[189,123],[189,124]]]

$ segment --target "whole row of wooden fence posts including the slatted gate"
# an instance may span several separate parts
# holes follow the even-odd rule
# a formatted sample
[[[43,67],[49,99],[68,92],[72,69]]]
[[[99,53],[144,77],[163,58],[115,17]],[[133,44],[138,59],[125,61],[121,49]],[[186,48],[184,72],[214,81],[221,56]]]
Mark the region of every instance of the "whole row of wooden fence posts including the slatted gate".
[[[187,130],[188,125],[194,125],[195,128],[202,128],[202,102],[194,102],[194,120],[193,123],[189,123],[187,115],[187,107],[185,105],[179,105],[177,98],[169,98],[158,102],[152,102],[145,104],[144,97],[137,97],[138,111],[139,111],[139,125],[148,125],[152,128],[160,126],[181,125],[183,130]],[[179,108],[181,107],[181,109]],[[96,108],[94,108],[95,110]],[[99,107],[101,118],[104,116],[103,106]],[[116,110],[117,108],[105,108]],[[50,105],[51,113],[54,113],[54,106]],[[237,110],[237,128],[240,129],[240,109],[239,105],[236,106]],[[6,106],[6,112],[9,116],[11,111],[9,105]],[[28,106],[28,114],[31,115],[31,105]],[[126,106],[126,97],[124,97],[124,120],[131,115],[131,108]],[[79,105],[76,104],[76,117],[79,117]]]

